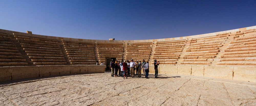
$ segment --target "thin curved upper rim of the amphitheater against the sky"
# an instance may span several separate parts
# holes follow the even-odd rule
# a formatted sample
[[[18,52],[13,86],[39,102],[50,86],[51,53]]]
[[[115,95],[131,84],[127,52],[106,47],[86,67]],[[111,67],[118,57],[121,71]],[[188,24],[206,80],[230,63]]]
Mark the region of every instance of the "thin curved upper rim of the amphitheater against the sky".
[[[188,40],[188,39],[195,39],[195,38],[204,38],[204,37],[211,37],[216,36],[218,34],[224,33],[231,33],[237,32],[242,30],[248,29],[256,29],[256,26],[238,28],[238,29],[231,29],[227,31],[221,32],[214,32],[214,33],[207,33],[207,34],[200,34],[200,35],[192,35],[192,36],[184,36],[184,37],[176,37],[176,38],[163,38],[163,39],[147,39],[147,40],[95,40],[95,39],[77,39],[77,38],[66,38],[66,37],[55,37],[55,36],[46,36],[46,35],[37,35],[37,34],[28,34],[23,32],[16,32],[16,31],[9,31],[5,29],[0,29],[2,33],[13,33],[14,35],[22,35],[22,36],[29,36],[29,37],[37,37],[37,38],[48,38],[48,39],[58,39],[58,40],[68,40],[68,41],[79,41],[79,42],[104,42],[104,43],[122,43],[122,42],[161,42],[161,41],[176,41],[176,40]]]

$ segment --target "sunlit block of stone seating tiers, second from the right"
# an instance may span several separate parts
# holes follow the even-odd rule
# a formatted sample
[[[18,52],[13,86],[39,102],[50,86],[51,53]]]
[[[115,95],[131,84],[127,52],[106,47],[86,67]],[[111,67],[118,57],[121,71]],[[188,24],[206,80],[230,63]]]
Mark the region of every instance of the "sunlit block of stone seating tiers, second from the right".
[[[229,33],[190,40],[180,64],[212,64],[227,36]]]

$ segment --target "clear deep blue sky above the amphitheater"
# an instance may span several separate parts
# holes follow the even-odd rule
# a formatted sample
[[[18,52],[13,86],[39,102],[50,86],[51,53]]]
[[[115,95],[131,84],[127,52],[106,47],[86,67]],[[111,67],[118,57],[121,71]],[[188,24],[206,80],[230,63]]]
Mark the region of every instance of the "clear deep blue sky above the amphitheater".
[[[0,0],[0,4],[0,29],[81,39],[161,39],[256,25],[255,0]]]

